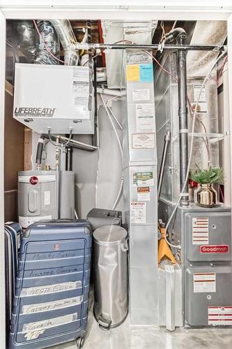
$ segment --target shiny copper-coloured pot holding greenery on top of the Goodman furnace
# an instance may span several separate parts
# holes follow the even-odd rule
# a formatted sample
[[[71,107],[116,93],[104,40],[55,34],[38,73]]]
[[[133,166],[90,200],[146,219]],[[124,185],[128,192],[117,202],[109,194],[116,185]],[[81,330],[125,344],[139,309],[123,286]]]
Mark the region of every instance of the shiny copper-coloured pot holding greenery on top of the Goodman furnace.
[[[194,202],[201,207],[213,207],[217,205],[217,191],[212,184],[198,184],[194,191]]]

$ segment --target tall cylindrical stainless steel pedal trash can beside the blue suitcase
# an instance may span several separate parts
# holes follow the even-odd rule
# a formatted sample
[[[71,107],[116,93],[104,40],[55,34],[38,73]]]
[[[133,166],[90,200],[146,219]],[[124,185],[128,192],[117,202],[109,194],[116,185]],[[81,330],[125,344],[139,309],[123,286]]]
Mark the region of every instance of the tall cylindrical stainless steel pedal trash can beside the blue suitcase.
[[[110,329],[121,325],[128,312],[127,231],[105,225],[93,232],[93,239],[93,313],[102,329]]]

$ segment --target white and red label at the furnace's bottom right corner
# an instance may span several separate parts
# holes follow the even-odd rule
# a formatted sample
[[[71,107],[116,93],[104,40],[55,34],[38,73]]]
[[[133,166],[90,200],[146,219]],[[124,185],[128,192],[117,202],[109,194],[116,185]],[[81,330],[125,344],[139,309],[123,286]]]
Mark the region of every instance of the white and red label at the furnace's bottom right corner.
[[[208,325],[232,325],[232,306],[208,306]]]

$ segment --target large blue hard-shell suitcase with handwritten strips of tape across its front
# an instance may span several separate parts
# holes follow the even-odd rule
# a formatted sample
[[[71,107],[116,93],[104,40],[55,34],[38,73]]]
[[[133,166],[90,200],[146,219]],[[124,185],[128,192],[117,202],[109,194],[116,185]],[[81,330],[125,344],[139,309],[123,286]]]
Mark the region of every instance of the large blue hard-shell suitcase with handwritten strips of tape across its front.
[[[82,348],[88,319],[91,225],[40,221],[20,246],[10,349],[47,348],[77,339]]]

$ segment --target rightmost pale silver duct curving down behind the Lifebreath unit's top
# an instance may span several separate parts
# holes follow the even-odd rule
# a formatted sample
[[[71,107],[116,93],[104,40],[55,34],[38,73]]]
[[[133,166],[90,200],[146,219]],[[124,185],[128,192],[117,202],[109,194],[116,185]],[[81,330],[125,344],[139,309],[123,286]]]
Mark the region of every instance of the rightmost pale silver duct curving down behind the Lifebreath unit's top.
[[[56,29],[56,32],[61,40],[65,55],[65,65],[77,66],[79,62],[78,50],[72,48],[72,45],[77,43],[72,30],[70,21],[68,20],[50,20]]]

